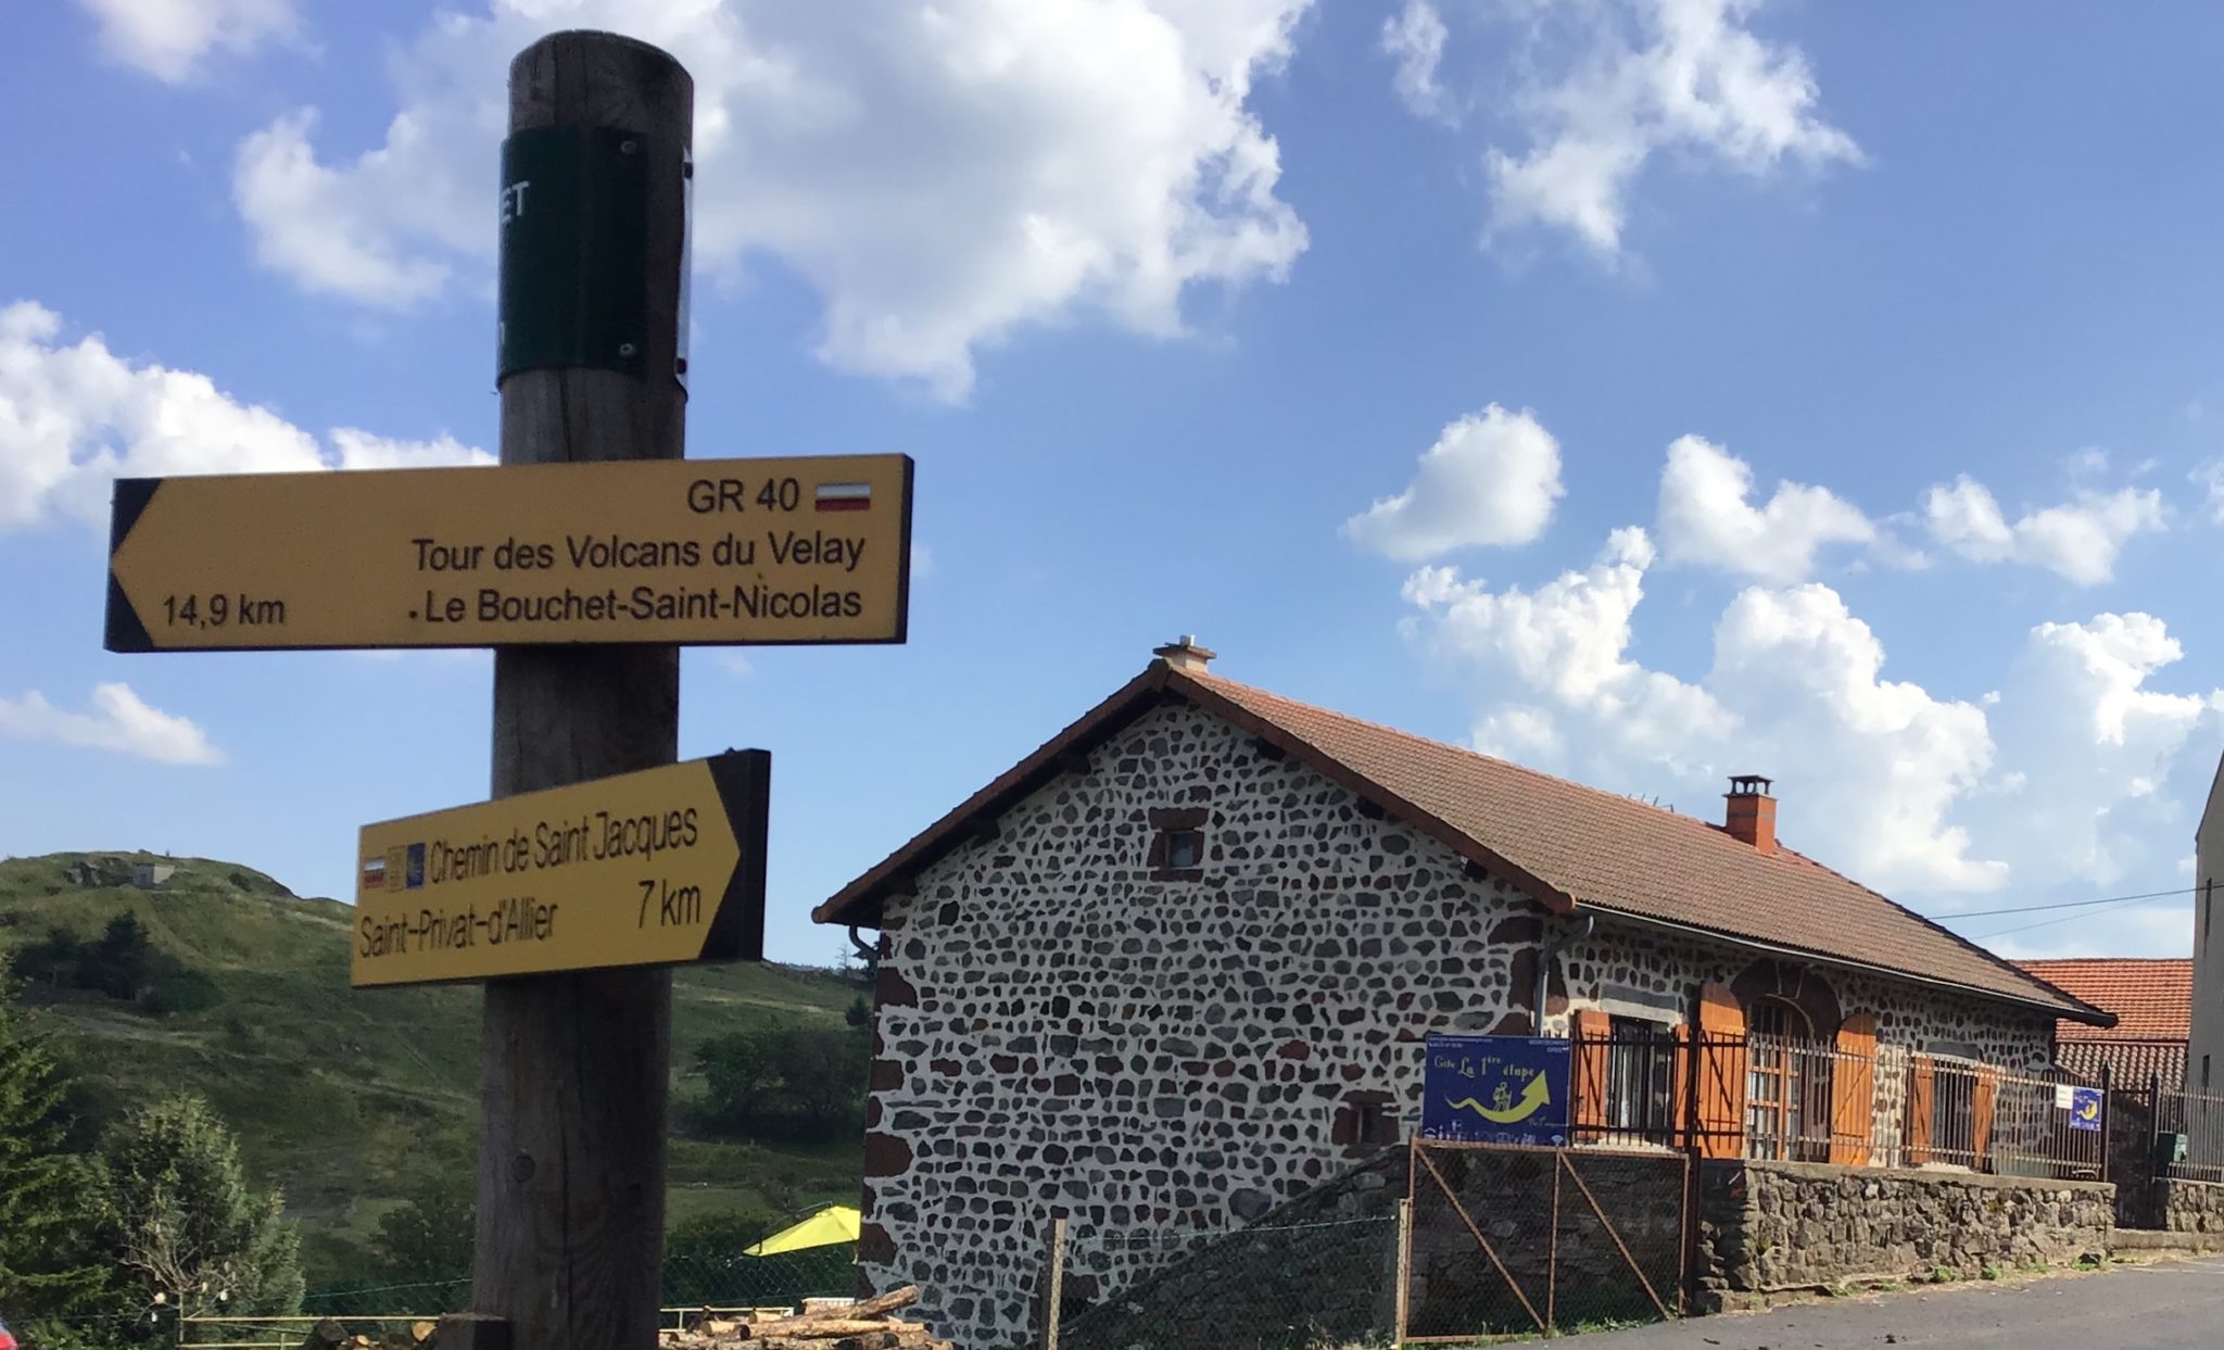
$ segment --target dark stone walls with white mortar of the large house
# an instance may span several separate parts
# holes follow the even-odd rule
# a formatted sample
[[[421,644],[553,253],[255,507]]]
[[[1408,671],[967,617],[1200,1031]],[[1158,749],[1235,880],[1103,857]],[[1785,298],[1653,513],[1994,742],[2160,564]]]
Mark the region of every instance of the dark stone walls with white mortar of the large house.
[[[1203,867],[1154,870],[1154,814],[1199,810]],[[921,1283],[970,1350],[1027,1337],[1054,1212],[1068,1292],[1092,1299],[1341,1172],[1370,1112],[1410,1132],[1419,1041],[1528,1030],[1539,941],[1566,923],[1190,705],[996,825],[883,912],[858,1245],[874,1288]],[[1601,921],[1548,1030],[1570,992],[1675,1021],[1750,961]],[[2044,1019],[1828,979],[1888,1039],[2044,1059]]]

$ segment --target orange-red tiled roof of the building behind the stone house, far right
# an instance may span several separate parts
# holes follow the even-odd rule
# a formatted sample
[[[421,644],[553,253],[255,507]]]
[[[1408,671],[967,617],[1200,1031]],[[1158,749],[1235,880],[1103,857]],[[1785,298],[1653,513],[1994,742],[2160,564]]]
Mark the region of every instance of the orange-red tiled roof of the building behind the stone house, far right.
[[[2193,961],[2186,956],[2066,956],[2017,961],[2057,990],[2115,1014],[2113,1028],[2064,1019],[2055,1025],[2055,1063],[2097,1083],[2102,1068],[2117,1088],[2164,1092],[2186,1088],[2186,1039],[2193,1034]]]

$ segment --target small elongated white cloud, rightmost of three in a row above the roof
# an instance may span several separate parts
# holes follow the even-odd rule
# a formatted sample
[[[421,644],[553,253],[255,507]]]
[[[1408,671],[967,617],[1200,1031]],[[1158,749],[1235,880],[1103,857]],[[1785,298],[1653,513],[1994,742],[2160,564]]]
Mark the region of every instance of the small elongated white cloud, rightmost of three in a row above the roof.
[[[2026,563],[2097,585],[2115,574],[2126,540],[2162,529],[2164,512],[2153,487],[2077,489],[2068,503],[2010,523],[1990,489],[1962,474],[1924,496],[1924,520],[1930,538],[1973,563]]]

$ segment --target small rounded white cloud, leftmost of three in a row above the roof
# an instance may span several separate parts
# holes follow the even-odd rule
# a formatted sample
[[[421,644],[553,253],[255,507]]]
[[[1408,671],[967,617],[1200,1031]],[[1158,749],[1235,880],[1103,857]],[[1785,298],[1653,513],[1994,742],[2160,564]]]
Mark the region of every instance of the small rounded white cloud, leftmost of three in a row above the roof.
[[[1552,523],[1559,440],[1530,409],[1497,403],[1450,423],[1421,454],[1406,492],[1343,523],[1377,554],[1419,560],[1475,545],[1523,545]]]

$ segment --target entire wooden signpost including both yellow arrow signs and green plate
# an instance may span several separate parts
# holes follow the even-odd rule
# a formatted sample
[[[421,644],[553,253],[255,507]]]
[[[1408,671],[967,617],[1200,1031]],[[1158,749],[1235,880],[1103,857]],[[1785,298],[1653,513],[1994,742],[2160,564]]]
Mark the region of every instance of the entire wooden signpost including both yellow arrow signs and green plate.
[[[694,82],[509,67],[500,467],[116,485],[113,652],[494,652],[494,801],[367,825],[356,985],[483,979],[471,1314],[649,1350],[672,965],[758,959],[770,754],[674,763],[676,643],[901,643],[905,456],[683,460]]]

